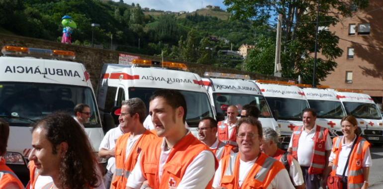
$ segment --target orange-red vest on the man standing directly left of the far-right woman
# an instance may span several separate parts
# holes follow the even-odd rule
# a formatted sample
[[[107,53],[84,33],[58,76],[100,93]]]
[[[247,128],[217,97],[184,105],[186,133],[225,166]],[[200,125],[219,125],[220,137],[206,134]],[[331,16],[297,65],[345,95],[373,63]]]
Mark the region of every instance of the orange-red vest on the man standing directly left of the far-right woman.
[[[292,132],[292,156],[295,159],[298,159],[298,142],[300,134],[303,131],[303,127],[294,127]],[[316,125],[315,135],[314,135],[314,149],[312,151],[311,164],[308,168],[308,174],[310,175],[319,175],[324,171],[324,166],[326,164],[326,153],[325,153],[325,144],[328,135],[328,129]]]

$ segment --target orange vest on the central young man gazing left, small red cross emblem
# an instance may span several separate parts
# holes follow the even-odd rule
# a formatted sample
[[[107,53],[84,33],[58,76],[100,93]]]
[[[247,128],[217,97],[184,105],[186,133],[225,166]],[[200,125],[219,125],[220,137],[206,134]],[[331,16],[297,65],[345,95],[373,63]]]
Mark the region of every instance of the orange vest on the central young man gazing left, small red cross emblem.
[[[141,172],[148,181],[148,185],[153,189],[177,187],[194,158],[204,150],[210,151],[205,144],[196,139],[191,133],[187,134],[171,149],[160,180],[158,167],[162,141],[162,138],[152,141],[152,145],[141,154]],[[215,169],[217,169],[218,161],[215,158],[214,160]],[[211,189],[212,181],[213,178],[211,178],[206,189]]]

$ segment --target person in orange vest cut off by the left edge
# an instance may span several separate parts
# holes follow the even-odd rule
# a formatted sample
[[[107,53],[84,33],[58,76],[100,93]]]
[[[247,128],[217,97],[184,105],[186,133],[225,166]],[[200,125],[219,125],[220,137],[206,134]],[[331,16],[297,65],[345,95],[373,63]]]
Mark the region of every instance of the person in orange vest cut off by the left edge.
[[[5,165],[2,157],[6,152],[9,137],[9,125],[0,119],[0,189],[24,189],[16,174]]]

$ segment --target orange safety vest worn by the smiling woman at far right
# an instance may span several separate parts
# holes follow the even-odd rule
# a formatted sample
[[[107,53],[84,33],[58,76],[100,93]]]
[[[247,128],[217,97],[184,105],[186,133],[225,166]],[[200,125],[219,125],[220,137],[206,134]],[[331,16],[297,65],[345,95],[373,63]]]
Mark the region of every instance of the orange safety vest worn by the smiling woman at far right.
[[[332,163],[331,176],[336,175],[336,168],[338,167],[339,153],[342,151],[341,142],[343,141],[343,136],[335,137],[333,139],[334,145],[332,147],[332,152],[335,153],[335,159]],[[358,137],[358,140],[355,144],[353,151],[351,152],[350,160],[348,166],[348,182],[347,188],[349,189],[360,189],[364,184],[363,177],[363,159],[366,154],[366,150],[370,148],[370,143],[362,138]],[[345,168],[347,169],[347,168]]]

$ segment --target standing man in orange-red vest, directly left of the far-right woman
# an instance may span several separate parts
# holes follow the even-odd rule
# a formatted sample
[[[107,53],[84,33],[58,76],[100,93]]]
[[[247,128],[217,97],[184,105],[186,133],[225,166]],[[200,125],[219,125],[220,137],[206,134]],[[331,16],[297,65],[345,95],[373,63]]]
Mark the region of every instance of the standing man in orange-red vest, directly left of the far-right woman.
[[[332,148],[328,129],[316,125],[315,120],[314,109],[303,110],[303,126],[294,127],[287,150],[298,160],[307,189],[319,189]]]

